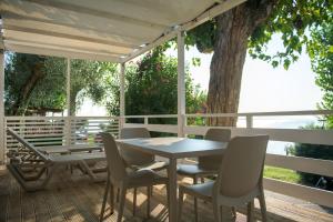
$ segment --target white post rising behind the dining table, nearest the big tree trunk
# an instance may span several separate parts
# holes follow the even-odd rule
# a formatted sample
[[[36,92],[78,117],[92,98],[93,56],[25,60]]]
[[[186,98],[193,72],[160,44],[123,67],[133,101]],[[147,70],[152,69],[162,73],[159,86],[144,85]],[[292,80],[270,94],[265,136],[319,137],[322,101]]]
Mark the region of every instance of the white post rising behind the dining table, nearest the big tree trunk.
[[[178,137],[184,137],[185,127],[185,50],[184,32],[179,32],[178,42]]]

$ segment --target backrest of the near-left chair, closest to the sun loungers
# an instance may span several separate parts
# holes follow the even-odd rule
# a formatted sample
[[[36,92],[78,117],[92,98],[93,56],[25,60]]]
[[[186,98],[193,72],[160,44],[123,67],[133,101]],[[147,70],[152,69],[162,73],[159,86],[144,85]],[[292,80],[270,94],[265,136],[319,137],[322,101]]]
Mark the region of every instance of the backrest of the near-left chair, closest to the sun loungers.
[[[125,164],[121,158],[113,137],[102,132],[102,141],[107,154],[108,169],[113,184],[121,183],[127,178]]]

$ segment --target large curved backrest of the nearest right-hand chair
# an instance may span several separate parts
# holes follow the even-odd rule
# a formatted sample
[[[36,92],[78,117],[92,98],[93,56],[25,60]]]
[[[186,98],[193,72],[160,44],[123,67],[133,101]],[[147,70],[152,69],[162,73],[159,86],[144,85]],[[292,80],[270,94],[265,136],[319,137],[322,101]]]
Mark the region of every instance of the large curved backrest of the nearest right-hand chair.
[[[269,135],[233,138],[223,154],[215,192],[239,198],[260,185]]]

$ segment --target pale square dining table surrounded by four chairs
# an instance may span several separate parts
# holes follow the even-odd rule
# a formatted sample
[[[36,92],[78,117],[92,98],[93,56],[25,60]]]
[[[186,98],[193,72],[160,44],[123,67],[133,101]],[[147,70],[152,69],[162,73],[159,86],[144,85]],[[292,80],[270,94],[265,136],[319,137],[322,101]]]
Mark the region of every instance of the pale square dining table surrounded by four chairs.
[[[228,143],[189,138],[137,138],[117,140],[119,145],[169,159],[169,221],[176,222],[178,180],[176,160],[223,154]]]

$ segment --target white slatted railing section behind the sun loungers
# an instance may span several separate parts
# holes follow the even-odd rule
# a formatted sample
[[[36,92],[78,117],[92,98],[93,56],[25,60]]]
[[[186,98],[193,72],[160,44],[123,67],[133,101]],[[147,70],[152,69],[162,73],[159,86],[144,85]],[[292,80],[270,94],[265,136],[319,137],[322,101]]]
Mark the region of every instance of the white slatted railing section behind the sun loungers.
[[[6,117],[4,124],[37,147],[101,143],[99,132],[119,134],[117,117]],[[7,134],[4,144],[10,150],[18,142]]]

